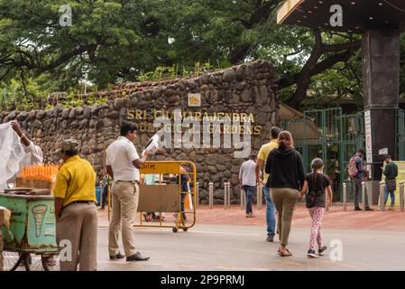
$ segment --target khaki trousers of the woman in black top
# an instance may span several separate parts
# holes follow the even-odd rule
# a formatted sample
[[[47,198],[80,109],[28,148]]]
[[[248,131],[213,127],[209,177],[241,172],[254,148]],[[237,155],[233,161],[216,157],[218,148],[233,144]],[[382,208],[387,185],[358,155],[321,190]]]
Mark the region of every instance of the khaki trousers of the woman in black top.
[[[299,191],[287,188],[271,189],[272,201],[277,210],[277,229],[282,246],[289,243],[292,214],[299,200]]]

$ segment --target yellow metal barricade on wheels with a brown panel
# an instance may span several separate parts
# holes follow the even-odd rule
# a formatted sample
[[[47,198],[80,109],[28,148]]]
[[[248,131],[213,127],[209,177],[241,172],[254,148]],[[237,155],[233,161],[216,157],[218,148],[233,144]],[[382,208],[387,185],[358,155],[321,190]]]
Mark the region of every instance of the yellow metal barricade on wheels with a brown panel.
[[[182,169],[182,165],[189,166],[189,172]],[[152,184],[140,184],[140,195],[138,201],[138,212],[140,213],[139,222],[135,223],[134,227],[149,227],[149,228],[172,228],[174,233],[179,229],[187,231],[189,228],[196,224],[197,215],[197,167],[195,163],[189,161],[161,161],[153,162],[148,161],[141,169],[142,175],[159,175],[158,181]],[[188,178],[192,180],[192,185],[189,185],[189,191],[181,190],[181,177],[180,175],[187,174]],[[164,182],[164,177],[167,175],[178,176],[179,183],[167,184]],[[108,191],[109,193],[109,191]],[[181,211],[181,196],[184,195],[185,199],[191,196],[189,206],[191,209]],[[111,198],[108,196],[108,200]],[[110,210],[110,202],[108,202]],[[169,220],[160,218],[155,222],[148,222],[144,219],[144,213],[157,212],[174,213],[175,219],[173,225],[170,225]],[[183,219],[185,216],[192,216],[192,222],[186,223]]]

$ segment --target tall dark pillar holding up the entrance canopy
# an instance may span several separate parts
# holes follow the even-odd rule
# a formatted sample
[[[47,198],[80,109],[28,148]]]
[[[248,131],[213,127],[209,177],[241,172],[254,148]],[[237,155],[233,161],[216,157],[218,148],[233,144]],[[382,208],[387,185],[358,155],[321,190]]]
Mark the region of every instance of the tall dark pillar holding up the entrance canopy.
[[[400,93],[400,33],[368,31],[363,35],[364,110],[370,111],[370,132],[366,127],[366,161],[373,163],[371,177],[381,181],[383,155],[396,155],[396,109]],[[369,144],[369,145],[367,145]],[[367,147],[368,146],[368,147]]]

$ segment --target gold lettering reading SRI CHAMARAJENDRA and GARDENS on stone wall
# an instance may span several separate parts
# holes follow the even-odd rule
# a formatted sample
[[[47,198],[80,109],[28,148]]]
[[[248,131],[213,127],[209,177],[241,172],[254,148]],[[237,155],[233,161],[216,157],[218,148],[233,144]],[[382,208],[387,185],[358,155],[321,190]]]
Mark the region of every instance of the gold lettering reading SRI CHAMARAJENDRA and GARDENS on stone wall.
[[[141,132],[157,132],[165,148],[234,148],[235,158],[251,154],[252,137],[261,126],[253,126],[253,114],[207,111],[128,110],[127,120],[135,120]]]

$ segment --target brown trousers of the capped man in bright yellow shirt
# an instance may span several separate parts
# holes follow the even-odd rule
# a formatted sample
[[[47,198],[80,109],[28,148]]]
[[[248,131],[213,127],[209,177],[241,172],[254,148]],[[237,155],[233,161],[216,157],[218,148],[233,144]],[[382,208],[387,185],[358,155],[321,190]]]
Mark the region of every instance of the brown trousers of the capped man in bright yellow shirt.
[[[56,232],[58,244],[62,246],[60,271],[77,271],[78,267],[80,271],[97,270],[96,204],[72,203],[63,208]],[[71,244],[71,251],[66,241]]]

